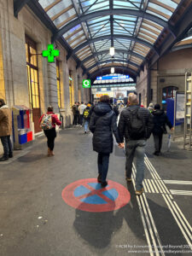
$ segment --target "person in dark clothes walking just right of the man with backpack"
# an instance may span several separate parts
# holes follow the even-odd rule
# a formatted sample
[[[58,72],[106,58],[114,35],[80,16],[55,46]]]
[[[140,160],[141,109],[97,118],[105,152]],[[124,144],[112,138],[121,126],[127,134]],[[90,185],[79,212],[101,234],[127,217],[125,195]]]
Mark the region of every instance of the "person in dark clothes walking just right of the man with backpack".
[[[166,134],[166,125],[169,126],[171,131],[173,131],[172,123],[167,118],[166,113],[163,109],[160,109],[160,104],[154,105],[154,111],[152,112],[154,117],[154,154],[160,155],[160,149],[162,147],[163,134]]]

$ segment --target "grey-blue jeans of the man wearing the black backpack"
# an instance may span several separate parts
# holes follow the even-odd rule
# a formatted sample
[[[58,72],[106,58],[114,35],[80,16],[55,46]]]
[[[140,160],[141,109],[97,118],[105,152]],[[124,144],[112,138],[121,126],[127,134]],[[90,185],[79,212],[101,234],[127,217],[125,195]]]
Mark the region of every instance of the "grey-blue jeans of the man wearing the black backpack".
[[[126,163],[125,163],[125,175],[131,177],[132,174],[132,162],[134,156],[136,156],[136,189],[143,189],[144,178],[144,153],[145,153],[145,140],[126,141]]]

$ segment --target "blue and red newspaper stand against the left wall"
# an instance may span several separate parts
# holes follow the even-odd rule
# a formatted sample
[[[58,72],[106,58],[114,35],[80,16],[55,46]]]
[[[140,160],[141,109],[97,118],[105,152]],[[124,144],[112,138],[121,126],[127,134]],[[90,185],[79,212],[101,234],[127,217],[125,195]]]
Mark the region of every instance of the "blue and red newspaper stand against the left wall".
[[[31,109],[26,106],[14,106],[13,139],[14,149],[22,149],[26,143],[32,142]]]

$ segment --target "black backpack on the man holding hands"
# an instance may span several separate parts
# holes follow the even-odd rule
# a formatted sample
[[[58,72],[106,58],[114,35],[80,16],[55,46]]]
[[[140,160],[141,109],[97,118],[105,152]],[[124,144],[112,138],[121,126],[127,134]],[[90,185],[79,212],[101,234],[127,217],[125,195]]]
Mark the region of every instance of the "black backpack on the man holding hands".
[[[127,108],[129,112],[128,117],[128,132],[132,140],[139,140],[146,137],[146,127],[143,121],[143,116],[139,112],[140,108],[130,109]]]

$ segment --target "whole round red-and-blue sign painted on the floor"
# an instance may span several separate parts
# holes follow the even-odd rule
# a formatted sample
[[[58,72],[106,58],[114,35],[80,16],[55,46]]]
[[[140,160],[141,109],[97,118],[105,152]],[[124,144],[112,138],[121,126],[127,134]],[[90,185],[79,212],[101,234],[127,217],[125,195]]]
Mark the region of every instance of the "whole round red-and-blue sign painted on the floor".
[[[85,212],[110,212],[125,207],[131,195],[119,183],[108,180],[108,186],[102,188],[96,178],[87,178],[67,185],[62,190],[62,199]]]

